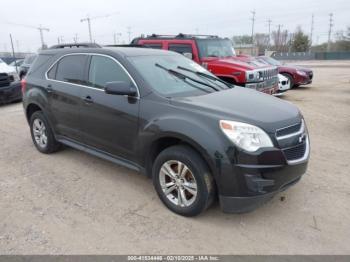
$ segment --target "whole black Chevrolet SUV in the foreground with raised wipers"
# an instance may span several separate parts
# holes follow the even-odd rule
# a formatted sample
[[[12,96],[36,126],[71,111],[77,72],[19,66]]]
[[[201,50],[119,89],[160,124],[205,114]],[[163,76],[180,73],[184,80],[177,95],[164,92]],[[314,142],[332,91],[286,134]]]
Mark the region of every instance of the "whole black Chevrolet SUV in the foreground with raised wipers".
[[[22,90],[37,150],[65,144],[137,170],[183,216],[216,196],[225,212],[253,210],[307,168],[308,132],[296,106],[232,86],[175,52],[41,51]]]

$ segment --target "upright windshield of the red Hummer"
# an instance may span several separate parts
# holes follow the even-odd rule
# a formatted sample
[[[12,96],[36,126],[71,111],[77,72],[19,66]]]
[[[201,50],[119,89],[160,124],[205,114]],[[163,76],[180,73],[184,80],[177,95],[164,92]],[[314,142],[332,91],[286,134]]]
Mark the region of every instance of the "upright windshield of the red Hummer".
[[[201,58],[236,56],[229,39],[197,39],[197,45]]]

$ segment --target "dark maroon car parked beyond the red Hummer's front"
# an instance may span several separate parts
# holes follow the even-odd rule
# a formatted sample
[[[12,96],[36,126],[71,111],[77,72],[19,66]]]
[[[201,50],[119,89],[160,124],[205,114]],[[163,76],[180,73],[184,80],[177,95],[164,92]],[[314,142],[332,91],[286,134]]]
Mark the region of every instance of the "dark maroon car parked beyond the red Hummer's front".
[[[269,56],[259,56],[257,57],[257,59],[268,65],[277,66],[278,73],[284,75],[289,79],[291,88],[312,83],[312,78],[314,74],[313,71],[309,68],[282,64],[280,61],[273,59]]]

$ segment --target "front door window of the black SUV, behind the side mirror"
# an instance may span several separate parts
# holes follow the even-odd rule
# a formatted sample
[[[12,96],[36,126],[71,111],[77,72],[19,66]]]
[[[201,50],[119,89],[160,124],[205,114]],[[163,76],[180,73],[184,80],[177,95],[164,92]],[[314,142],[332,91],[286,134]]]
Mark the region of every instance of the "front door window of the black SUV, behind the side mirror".
[[[89,69],[89,86],[104,88],[106,83],[114,81],[131,83],[125,70],[113,59],[93,55]]]

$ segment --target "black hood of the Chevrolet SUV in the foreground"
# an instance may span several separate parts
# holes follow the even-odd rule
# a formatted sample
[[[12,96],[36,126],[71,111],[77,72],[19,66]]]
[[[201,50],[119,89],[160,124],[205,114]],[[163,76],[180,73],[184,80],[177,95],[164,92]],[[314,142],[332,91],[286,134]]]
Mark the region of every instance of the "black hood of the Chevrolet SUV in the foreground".
[[[217,120],[234,120],[263,128],[268,133],[300,122],[299,109],[290,102],[244,87],[208,95],[173,98],[175,106],[198,110]]]

